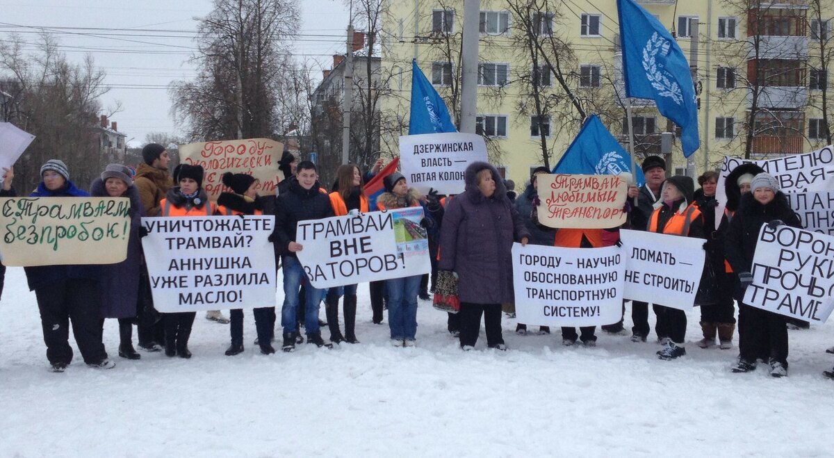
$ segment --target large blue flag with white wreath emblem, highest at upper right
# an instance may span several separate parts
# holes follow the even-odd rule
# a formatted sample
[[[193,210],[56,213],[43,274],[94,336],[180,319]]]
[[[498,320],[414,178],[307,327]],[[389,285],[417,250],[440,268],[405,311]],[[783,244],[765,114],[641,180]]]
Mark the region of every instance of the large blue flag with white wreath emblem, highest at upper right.
[[[675,38],[634,0],[617,0],[625,96],[651,98],[681,126],[687,158],[698,149],[698,106],[689,63]]]

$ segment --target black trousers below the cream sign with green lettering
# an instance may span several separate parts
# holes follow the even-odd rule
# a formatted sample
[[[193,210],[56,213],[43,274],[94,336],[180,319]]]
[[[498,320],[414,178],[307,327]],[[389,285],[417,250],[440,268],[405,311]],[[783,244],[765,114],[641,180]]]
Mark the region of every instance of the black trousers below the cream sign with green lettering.
[[[69,346],[69,325],[87,364],[107,359],[102,343],[102,318],[98,284],[88,279],[66,279],[48,288],[35,289],[41,313],[43,342],[50,364],[69,364],[73,349]]]

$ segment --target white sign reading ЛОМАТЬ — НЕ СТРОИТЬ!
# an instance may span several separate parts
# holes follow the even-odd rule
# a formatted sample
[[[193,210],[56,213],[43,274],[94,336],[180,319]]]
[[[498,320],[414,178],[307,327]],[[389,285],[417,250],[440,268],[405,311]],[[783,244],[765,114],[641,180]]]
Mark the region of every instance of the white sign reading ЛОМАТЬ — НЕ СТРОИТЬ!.
[[[704,269],[704,239],[620,229],[625,299],[690,310]]]

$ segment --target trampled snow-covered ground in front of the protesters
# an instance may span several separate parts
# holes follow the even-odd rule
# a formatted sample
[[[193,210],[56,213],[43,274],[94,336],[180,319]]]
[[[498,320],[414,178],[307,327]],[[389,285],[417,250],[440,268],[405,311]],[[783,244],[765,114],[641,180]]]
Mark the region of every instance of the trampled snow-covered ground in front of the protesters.
[[[736,349],[696,347],[697,310],[681,360],[601,332],[595,349],[566,348],[558,331],[519,336],[507,319],[509,351],[486,350],[482,331],[464,353],[428,302],[418,346],[391,347],[359,293],[361,345],[260,355],[248,313],[246,351],[229,357],[229,327],[198,314],[191,360],[128,361],[108,320],[113,370],[89,369],[71,339],[73,365],[53,374],[34,294],[10,268],[0,456],[834,455],[834,382],[821,375],[831,325],[791,332],[790,375],[777,380],[731,374]]]

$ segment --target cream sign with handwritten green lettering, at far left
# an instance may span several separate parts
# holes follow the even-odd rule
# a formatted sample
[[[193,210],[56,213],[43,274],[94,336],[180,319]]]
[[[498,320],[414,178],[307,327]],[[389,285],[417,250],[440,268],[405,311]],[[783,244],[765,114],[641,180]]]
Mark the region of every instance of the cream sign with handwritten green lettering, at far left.
[[[7,266],[116,264],[128,257],[126,197],[0,198]]]

